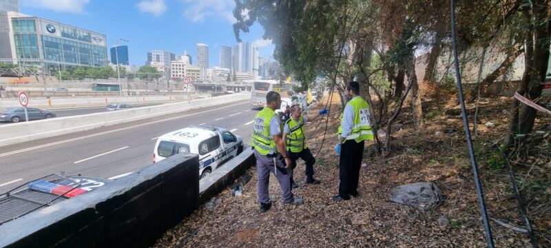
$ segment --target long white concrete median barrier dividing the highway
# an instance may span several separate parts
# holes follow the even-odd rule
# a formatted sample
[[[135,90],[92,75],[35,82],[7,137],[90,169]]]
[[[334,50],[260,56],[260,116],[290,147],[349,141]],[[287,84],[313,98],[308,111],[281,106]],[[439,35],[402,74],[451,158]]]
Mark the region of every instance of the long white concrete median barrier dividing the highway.
[[[115,125],[137,121],[144,118],[183,112],[198,107],[209,107],[223,103],[230,104],[235,101],[249,99],[249,94],[229,94],[209,99],[198,99],[191,103],[168,103],[149,107],[140,107],[129,110],[114,112],[85,114],[80,116],[67,116],[61,118],[50,118],[40,121],[25,121],[22,123],[11,123],[0,125],[0,147],[34,141],[40,138],[48,138],[71,132],[91,130],[96,127]]]

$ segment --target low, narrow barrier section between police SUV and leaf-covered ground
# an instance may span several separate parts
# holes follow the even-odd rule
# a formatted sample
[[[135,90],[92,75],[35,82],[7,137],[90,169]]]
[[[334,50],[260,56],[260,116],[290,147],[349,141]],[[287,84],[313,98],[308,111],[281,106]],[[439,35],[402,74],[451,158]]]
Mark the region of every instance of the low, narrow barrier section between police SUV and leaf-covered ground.
[[[243,152],[227,163],[214,170],[209,176],[199,182],[199,204],[207,202],[209,198],[216,196],[227,187],[233,185],[234,180],[245,173],[247,169],[255,165],[253,150],[245,147]]]

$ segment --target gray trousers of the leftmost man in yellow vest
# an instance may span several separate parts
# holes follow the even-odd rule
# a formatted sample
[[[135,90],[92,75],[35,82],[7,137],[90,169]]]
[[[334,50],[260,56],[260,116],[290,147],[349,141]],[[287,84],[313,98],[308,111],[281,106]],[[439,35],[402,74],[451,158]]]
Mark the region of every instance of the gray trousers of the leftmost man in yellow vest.
[[[257,190],[258,190],[258,203],[268,204],[270,203],[270,195],[268,192],[268,185],[270,179],[270,172],[274,173],[273,158],[260,154],[254,149],[254,156],[256,157],[256,172],[257,176]],[[275,158],[278,171],[275,174],[275,178],[280,183],[281,194],[283,197],[283,203],[293,202],[293,193],[291,192],[291,168],[285,169],[285,163],[282,161],[282,156],[278,154]]]

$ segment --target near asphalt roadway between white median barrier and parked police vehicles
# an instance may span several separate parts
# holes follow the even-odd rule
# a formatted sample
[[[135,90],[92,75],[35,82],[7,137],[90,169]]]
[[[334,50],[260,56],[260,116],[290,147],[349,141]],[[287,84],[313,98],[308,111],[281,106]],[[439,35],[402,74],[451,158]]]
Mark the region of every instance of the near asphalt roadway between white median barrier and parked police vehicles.
[[[156,138],[188,125],[214,125],[251,140],[258,112],[238,101],[0,147],[0,194],[29,180],[65,172],[117,178],[152,163]]]

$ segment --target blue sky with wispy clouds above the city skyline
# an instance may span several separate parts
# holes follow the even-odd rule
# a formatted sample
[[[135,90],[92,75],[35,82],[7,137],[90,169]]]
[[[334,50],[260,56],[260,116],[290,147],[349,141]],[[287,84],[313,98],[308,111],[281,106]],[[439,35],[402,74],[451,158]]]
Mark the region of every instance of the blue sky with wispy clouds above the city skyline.
[[[166,50],[193,56],[196,44],[209,45],[209,65],[220,65],[220,45],[236,44],[233,0],[20,0],[21,12],[107,34],[108,49],[127,39],[132,65],[144,65],[147,52]],[[273,45],[258,24],[241,39],[270,57]],[[108,51],[109,53],[109,51]]]

